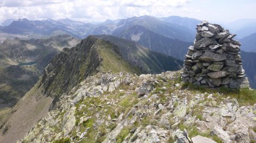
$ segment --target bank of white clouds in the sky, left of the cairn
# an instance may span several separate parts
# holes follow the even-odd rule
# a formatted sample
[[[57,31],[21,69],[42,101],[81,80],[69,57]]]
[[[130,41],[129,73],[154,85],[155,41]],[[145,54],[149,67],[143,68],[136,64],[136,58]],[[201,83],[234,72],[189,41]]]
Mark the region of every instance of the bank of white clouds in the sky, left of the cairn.
[[[190,0],[0,0],[0,21],[10,18],[104,21],[151,15],[170,16]]]

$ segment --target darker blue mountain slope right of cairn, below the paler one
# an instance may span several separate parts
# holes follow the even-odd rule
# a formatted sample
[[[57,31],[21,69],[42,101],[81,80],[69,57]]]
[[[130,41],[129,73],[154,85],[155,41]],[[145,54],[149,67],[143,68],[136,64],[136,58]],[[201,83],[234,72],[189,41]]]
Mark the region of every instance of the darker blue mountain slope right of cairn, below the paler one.
[[[250,81],[251,88],[256,89],[256,53],[241,51],[243,69]]]

